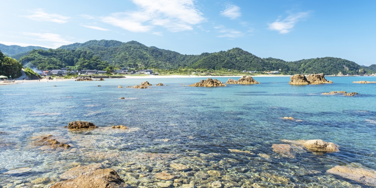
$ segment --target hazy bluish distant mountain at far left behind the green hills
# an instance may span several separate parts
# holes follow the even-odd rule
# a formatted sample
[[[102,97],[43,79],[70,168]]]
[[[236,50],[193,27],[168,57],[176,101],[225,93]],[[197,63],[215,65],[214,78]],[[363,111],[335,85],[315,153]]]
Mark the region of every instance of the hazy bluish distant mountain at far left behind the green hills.
[[[5,44],[0,44],[0,49],[5,55],[11,58],[15,58],[15,59],[19,59],[22,56],[27,55],[30,52],[30,50],[34,50],[34,49],[48,50],[48,48],[44,48],[40,46],[22,47],[19,45],[5,45]]]

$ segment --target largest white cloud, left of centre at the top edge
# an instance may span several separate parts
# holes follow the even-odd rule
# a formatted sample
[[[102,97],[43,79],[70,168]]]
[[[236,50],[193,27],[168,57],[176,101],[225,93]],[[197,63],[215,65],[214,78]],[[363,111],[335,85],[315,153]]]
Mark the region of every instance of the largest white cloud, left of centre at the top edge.
[[[155,26],[171,32],[193,30],[193,25],[205,21],[194,6],[194,0],[133,0],[139,10],[118,12],[102,21],[130,32],[148,32]]]

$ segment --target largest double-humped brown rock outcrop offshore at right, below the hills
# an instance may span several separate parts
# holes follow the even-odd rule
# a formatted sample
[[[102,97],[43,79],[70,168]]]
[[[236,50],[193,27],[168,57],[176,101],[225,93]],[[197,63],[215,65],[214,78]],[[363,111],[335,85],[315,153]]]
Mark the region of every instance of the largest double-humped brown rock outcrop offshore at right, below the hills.
[[[305,77],[304,74],[295,74],[291,76],[291,85],[308,85],[308,84],[323,84],[323,83],[333,83],[332,81],[327,81],[324,74],[309,74]]]

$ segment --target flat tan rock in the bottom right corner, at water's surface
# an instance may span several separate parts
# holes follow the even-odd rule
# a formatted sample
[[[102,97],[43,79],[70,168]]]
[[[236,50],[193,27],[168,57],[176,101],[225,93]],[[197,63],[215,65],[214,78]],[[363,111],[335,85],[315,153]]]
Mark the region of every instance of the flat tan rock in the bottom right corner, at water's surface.
[[[376,187],[376,171],[361,167],[335,166],[326,171],[329,174],[350,179],[368,186]]]

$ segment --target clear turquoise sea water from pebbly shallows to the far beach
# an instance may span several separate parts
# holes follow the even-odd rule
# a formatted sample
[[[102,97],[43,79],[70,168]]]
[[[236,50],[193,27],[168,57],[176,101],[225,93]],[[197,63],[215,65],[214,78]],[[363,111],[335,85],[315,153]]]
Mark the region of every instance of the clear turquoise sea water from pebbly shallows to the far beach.
[[[351,83],[376,81],[376,77],[327,77],[334,83],[305,86],[289,85],[290,77],[255,77],[261,82],[256,85],[183,86],[200,79],[126,78],[0,86],[0,187],[33,186],[32,180],[38,177],[50,180],[35,187],[49,187],[68,169],[98,162],[114,168],[125,180],[139,178],[137,173],[146,173],[142,170],[146,166],[151,168],[147,173],[168,170],[172,161],[195,171],[220,170],[243,186],[260,187],[359,187],[364,185],[325,172],[354,162],[376,170],[376,84]],[[227,79],[219,78],[222,82]],[[125,88],[146,80],[167,86]],[[321,95],[329,91],[359,95]],[[64,126],[75,120],[90,121],[99,129],[68,131]],[[130,129],[110,128],[120,124]],[[40,135],[53,135],[72,147],[35,147],[33,136]],[[323,139],[340,145],[340,152],[303,151],[288,158],[271,148],[282,139]],[[148,153],[176,155],[157,160],[144,156]],[[4,174],[21,167],[32,170]],[[196,186],[208,183],[193,182]]]

